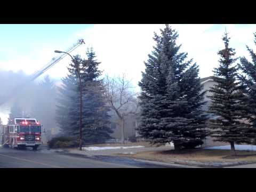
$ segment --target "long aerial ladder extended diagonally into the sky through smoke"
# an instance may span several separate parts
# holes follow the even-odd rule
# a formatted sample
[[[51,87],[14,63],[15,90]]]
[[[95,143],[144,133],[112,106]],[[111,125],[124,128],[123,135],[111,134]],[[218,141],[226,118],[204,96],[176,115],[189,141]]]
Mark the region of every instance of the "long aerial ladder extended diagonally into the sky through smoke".
[[[19,88],[19,90],[21,88],[24,88],[26,86],[27,83],[34,81],[37,77],[41,76],[43,73],[45,73],[46,70],[50,69],[51,67],[53,67],[56,63],[58,63],[59,61],[61,61],[63,58],[66,57],[67,53],[71,53],[72,51],[74,51],[75,49],[77,49],[77,47],[79,47],[80,45],[85,44],[84,43],[84,39],[78,39],[78,41],[76,43],[74,43],[72,46],[70,46],[65,52],[62,52],[59,57],[54,57],[51,59],[51,61],[49,61],[44,67],[42,67],[41,69],[35,71],[33,74],[31,74],[28,79],[26,80],[26,82],[23,82],[22,85],[17,86]],[[5,102],[9,101],[11,98],[13,98],[15,96],[14,92],[17,89],[14,89],[13,92],[11,92],[9,95],[7,95],[2,101],[0,101],[0,106],[2,106]]]

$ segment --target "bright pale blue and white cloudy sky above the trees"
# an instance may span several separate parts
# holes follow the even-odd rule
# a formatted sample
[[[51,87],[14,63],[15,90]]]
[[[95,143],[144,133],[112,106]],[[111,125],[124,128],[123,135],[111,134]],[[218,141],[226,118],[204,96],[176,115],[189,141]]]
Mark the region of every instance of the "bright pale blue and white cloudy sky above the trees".
[[[170,25],[178,31],[177,43],[182,45],[180,51],[187,52],[188,59],[193,58],[199,65],[202,78],[213,75],[212,70],[219,60],[217,52],[224,46],[221,38],[226,30],[236,57],[249,58],[245,45],[256,50],[253,42],[256,25]],[[144,61],[155,45],[154,31],[159,34],[160,28],[164,25],[0,25],[0,70],[23,70],[32,74],[58,55],[54,50],[65,51],[77,39],[83,38],[85,45],[71,54],[81,54],[85,58],[87,48],[93,47],[103,75],[126,73],[138,89],[141,71],[145,69]],[[55,79],[64,77],[69,62],[70,58],[66,57],[45,74]]]

